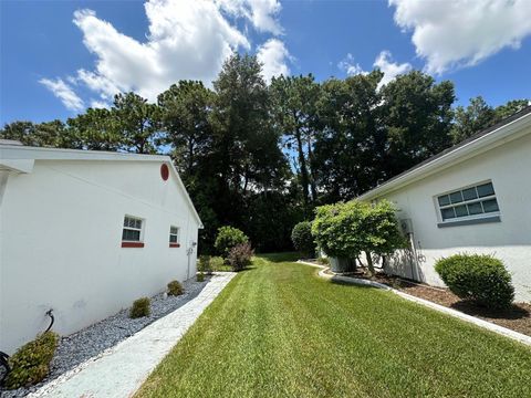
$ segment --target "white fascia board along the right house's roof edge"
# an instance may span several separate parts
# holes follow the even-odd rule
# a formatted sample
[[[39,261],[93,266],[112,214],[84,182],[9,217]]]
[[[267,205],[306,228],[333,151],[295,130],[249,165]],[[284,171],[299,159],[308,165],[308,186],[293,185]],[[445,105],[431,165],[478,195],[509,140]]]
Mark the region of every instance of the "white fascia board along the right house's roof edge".
[[[379,187],[358,196],[356,199],[372,200],[378,198],[530,133],[531,114],[527,114],[396,179],[384,182]]]

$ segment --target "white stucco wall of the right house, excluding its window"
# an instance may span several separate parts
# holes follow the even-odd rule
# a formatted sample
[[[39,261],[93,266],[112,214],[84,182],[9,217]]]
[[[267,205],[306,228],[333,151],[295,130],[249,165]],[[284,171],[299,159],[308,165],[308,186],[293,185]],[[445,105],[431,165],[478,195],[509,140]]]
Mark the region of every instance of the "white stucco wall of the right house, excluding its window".
[[[531,132],[530,132],[531,133]],[[410,219],[415,254],[400,252],[387,271],[433,285],[444,283],[435,262],[456,253],[501,259],[512,274],[517,301],[531,301],[531,134],[506,143],[383,197]],[[492,180],[501,222],[438,228],[436,196]]]

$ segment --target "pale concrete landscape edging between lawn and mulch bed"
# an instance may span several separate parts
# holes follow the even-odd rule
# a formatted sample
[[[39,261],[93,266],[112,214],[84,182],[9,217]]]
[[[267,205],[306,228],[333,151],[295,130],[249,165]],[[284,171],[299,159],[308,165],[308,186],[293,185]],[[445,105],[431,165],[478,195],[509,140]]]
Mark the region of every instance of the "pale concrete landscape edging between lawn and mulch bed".
[[[339,275],[336,273],[330,274],[330,273],[326,272],[326,271],[332,272],[329,266],[324,266],[324,265],[320,265],[320,264],[313,264],[313,263],[302,261],[302,260],[299,260],[298,263],[320,268],[321,271],[319,271],[319,273],[317,273],[320,277],[334,280],[334,281],[341,281],[341,282],[344,282],[344,283],[350,283],[350,284],[355,284],[355,285],[373,286],[373,287],[376,287],[376,289],[383,289],[383,290],[386,290],[386,291],[391,291],[394,294],[399,295],[403,298],[406,298],[406,300],[415,302],[417,304],[430,307],[431,310],[436,310],[436,311],[445,313],[447,315],[458,317],[462,321],[472,323],[476,326],[483,327],[486,329],[489,329],[490,332],[494,332],[499,335],[509,337],[513,341],[520,342],[520,343],[525,344],[525,345],[531,347],[531,336],[527,336],[522,333],[514,332],[510,328],[497,325],[492,322],[488,322],[488,321],[478,318],[476,316],[471,316],[471,315],[461,313],[460,311],[448,308],[444,305],[433,303],[428,300],[424,300],[424,298],[404,293],[399,290],[387,286],[383,283],[368,281],[368,280],[362,280],[362,279],[357,279],[357,277],[343,276],[343,275]]]

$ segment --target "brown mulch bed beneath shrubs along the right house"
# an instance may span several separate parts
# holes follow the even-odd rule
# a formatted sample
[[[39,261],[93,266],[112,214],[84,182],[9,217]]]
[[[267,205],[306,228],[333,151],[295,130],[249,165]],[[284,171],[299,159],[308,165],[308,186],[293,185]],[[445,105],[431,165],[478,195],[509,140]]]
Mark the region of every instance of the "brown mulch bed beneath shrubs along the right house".
[[[371,279],[363,271],[345,274],[345,276]],[[464,301],[451,293],[448,289],[434,287],[426,284],[414,283],[398,276],[386,275],[378,272],[371,279],[384,283],[391,287],[403,291],[416,297],[428,300],[433,303],[460,311],[465,314],[492,322],[497,325],[510,328],[514,332],[531,336],[531,304],[513,303],[507,310],[488,310],[472,302]]]

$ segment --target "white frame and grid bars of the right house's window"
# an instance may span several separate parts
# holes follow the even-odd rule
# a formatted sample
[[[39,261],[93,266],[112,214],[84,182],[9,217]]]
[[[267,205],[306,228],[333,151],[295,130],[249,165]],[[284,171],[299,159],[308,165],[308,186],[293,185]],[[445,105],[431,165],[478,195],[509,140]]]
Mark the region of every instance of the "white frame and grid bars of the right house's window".
[[[450,195],[450,193],[455,193],[455,192],[458,192],[458,191],[462,192],[464,190],[467,190],[467,189],[470,189],[470,188],[476,188],[477,189],[477,187],[486,185],[486,184],[491,184],[492,185],[492,190],[494,191],[494,193],[489,195],[489,196],[485,196],[485,197],[481,197],[481,198],[478,195],[478,197],[475,198],[475,199],[462,200],[462,201],[457,202],[457,203],[449,203],[449,205],[445,205],[445,206],[439,205],[439,198],[445,196],[445,195]],[[496,199],[496,202],[498,205],[498,211],[485,212],[482,202],[486,201],[486,200],[489,200],[489,199]],[[482,213],[472,214],[472,216],[469,214],[469,216],[462,216],[462,217],[455,217],[455,218],[450,218],[450,219],[446,219],[446,220],[442,217],[442,210],[444,209],[456,208],[458,206],[471,205],[471,203],[478,203],[478,202],[481,205],[481,209],[483,210]],[[499,219],[499,217],[501,216],[500,203],[499,203],[498,198],[496,196],[496,188],[494,188],[494,185],[493,185],[492,180],[483,180],[483,181],[480,181],[480,182],[470,184],[470,185],[461,187],[461,188],[451,189],[451,190],[448,190],[446,192],[437,193],[436,196],[434,196],[434,203],[435,203],[435,207],[437,209],[437,218],[439,220],[439,226],[446,226],[446,224],[450,226],[452,223],[462,224],[462,221],[465,221],[465,222],[472,221],[472,223],[473,223],[475,220],[478,220],[478,222],[480,222],[481,220],[485,221],[486,219],[493,219],[493,218]]]

